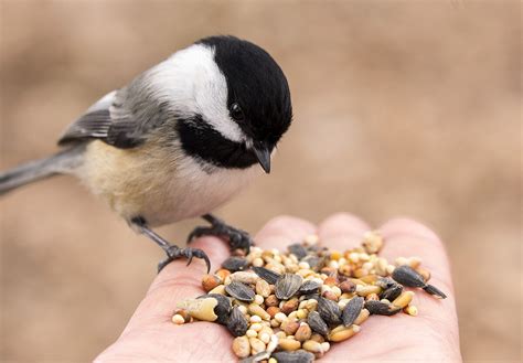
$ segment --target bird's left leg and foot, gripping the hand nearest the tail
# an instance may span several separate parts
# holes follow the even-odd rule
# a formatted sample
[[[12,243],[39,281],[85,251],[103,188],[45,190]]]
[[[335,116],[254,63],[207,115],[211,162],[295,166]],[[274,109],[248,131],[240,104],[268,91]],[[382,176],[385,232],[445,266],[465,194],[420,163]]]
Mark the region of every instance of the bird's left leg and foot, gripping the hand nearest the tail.
[[[161,236],[156,234],[151,228],[149,228],[146,223],[146,220],[142,217],[132,218],[131,223],[138,228],[140,233],[145,234],[150,239],[156,242],[157,245],[159,245],[166,252],[167,258],[158,264],[158,273],[160,273],[163,267],[169,265],[174,259],[182,257],[188,259],[188,266],[191,264],[194,257],[202,258],[203,260],[205,260],[205,265],[207,265],[207,274],[211,270],[211,261],[209,260],[207,255],[203,250],[198,248],[180,248],[177,245],[171,245],[169,242],[167,242]]]

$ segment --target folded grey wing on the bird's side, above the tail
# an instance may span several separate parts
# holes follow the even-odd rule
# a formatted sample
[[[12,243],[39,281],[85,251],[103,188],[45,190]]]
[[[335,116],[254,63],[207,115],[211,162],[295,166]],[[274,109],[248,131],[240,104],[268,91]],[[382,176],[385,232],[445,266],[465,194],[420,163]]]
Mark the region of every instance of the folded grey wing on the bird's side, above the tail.
[[[58,145],[100,139],[120,149],[140,146],[151,130],[173,117],[167,103],[160,103],[147,81],[140,78],[100,98],[70,125]]]

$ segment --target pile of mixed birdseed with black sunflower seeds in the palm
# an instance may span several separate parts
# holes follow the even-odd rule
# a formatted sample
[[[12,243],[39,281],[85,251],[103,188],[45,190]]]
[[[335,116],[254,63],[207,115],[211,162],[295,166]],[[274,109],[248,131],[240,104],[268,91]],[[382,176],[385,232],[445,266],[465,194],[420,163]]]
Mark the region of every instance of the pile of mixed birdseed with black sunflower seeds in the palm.
[[[203,277],[207,293],[179,302],[172,321],[227,327],[241,362],[312,362],[359,333],[372,314],[416,316],[414,291],[404,287],[446,298],[427,284],[430,273],[419,258],[392,265],[380,257],[378,232],[365,233],[360,247],[344,253],[318,242],[310,235],[288,253],[253,247],[247,256],[227,258]]]

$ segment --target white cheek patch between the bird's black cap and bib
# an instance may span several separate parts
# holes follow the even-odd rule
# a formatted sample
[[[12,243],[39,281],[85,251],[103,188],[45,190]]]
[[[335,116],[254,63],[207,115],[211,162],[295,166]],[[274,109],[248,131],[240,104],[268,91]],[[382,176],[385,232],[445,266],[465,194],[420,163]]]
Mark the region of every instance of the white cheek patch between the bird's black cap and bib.
[[[227,82],[214,62],[213,49],[193,44],[153,67],[149,77],[158,97],[169,102],[178,114],[200,114],[225,138],[237,142],[246,140],[230,117]]]

